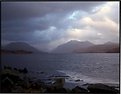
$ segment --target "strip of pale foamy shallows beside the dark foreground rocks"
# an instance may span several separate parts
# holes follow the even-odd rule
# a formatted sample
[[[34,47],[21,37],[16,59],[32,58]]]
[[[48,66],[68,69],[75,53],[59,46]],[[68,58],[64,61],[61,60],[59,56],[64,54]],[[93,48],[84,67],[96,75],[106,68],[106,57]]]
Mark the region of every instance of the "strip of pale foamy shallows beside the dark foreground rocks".
[[[32,72],[32,75],[35,73],[35,75],[39,75],[38,77],[35,76],[36,79],[40,79],[41,80],[47,80],[47,79],[53,79],[53,78],[57,78],[57,77],[60,77],[60,78],[64,78],[65,79],[65,84],[66,83],[70,83],[70,84],[76,84],[76,85],[83,85],[83,84],[95,84],[95,83],[103,83],[103,84],[106,84],[106,85],[119,85],[119,82],[118,81],[115,81],[115,80],[112,80],[112,79],[104,79],[104,78],[96,78],[96,77],[89,77],[89,76],[85,76],[85,75],[82,75],[81,76],[78,76],[78,77],[75,77],[77,75],[68,75],[66,73],[64,73],[64,71],[60,71],[60,70],[57,70],[56,72],[45,72],[45,71],[39,71],[39,72]],[[47,74],[48,73],[48,74]],[[67,85],[66,85],[67,86]]]

